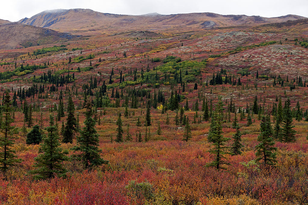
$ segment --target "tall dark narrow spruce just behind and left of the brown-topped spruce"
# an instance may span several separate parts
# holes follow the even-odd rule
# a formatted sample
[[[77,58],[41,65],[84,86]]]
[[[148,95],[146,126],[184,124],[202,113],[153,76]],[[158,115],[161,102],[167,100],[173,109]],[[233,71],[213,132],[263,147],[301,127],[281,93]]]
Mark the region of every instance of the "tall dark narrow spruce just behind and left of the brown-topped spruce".
[[[76,131],[77,127],[77,121],[74,116],[75,106],[74,102],[72,100],[72,97],[70,96],[67,103],[67,119],[66,119],[66,125],[63,132],[63,143],[72,143],[73,142],[73,136],[74,132]]]

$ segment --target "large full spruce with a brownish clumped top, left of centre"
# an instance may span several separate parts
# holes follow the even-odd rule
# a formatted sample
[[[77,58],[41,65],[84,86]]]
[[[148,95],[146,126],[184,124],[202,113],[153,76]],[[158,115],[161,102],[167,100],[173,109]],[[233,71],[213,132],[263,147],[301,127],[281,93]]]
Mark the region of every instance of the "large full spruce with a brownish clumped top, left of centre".
[[[74,151],[80,151],[80,154],[73,155],[73,158],[83,162],[84,167],[91,168],[93,166],[108,164],[108,161],[103,160],[99,153],[102,152],[98,148],[99,135],[95,130],[95,121],[92,118],[92,103],[88,99],[85,108],[86,119],[84,120],[85,127],[77,137],[77,146],[73,147]]]

